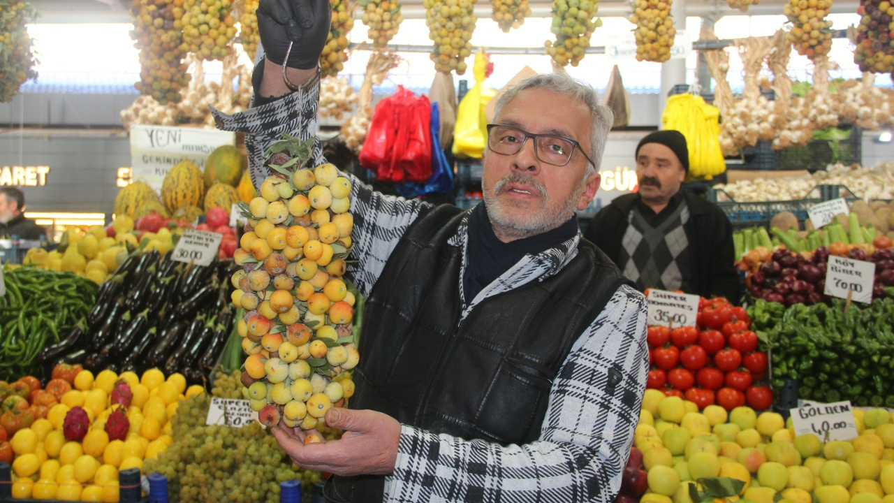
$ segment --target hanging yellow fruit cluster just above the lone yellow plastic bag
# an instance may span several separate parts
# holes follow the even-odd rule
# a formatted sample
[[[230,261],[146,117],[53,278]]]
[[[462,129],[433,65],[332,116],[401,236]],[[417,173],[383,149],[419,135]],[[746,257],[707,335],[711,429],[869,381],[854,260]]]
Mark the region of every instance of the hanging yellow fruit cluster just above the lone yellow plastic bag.
[[[425,0],[428,38],[434,42],[432,61],[438,72],[462,75],[472,54],[472,32],[478,21],[476,0]]]

